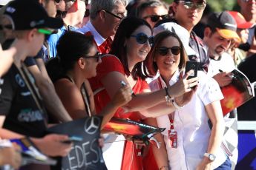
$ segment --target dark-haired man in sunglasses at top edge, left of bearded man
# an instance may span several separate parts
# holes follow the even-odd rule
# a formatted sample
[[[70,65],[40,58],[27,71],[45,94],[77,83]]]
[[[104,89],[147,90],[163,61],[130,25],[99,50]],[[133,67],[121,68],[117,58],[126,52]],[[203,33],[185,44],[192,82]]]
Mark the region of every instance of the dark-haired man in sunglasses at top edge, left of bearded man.
[[[200,61],[199,69],[207,72],[209,65],[209,57],[207,50],[200,37],[194,33],[194,26],[200,21],[203,15],[203,10],[206,7],[206,0],[174,0],[171,4],[171,13],[177,24],[186,28],[190,33],[189,46],[197,52],[197,55],[189,55],[191,61]]]

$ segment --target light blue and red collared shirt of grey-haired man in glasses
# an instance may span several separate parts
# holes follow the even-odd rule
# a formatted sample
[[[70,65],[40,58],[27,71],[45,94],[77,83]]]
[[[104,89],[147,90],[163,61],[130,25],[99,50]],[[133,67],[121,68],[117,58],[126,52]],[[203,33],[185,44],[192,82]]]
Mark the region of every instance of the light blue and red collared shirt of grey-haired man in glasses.
[[[110,52],[111,44],[112,44],[111,37],[106,38],[106,39],[103,38],[102,35],[100,35],[96,31],[95,27],[93,27],[93,24],[91,24],[91,21],[88,21],[88,23],[85,24],[84,27],[76,30],[76,32],[82,33],[82,34],[85,34],[85,35],[93,35],[94,42],[95,42],[99,52],[102,52],[102,53]]]

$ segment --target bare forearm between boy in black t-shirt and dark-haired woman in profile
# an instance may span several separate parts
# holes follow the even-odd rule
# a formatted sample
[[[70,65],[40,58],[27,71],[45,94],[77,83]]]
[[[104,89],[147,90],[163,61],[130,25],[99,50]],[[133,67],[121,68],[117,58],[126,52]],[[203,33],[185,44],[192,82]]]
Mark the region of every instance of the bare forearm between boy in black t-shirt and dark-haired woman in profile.
[[[57,118],[62,122],[72,120],[56,94],[53,83],[50,81],[50,78],[47,75],[42,58],[36,59],[36,64],[38,66],[33,65],[28,67],[28,69],[36,79],[36,85],[39,87],[39,92],[42,95],[46,108],[51,114],[53,114],[54,118]]]

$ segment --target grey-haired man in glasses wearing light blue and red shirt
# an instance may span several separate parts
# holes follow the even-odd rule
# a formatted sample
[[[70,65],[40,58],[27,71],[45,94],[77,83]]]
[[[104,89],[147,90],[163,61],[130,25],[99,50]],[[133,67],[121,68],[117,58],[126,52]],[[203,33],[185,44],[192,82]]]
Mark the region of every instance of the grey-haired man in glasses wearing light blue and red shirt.
[[[93,35],[99,52],[108,53],[112,37],[126,14],[126,0],[91,1],[90,21],[77,32]]]

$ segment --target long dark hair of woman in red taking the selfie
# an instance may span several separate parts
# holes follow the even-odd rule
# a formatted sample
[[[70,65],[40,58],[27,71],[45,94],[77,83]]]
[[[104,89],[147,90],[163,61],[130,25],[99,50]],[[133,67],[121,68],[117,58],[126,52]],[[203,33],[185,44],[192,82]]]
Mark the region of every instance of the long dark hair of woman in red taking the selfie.
[[[128,56],[124,44],[125,39],[130,38],[131,34],[134,33],[134,31],[137,30],[138,27],[143,25],[147,26],[151,30],[151,27],[148,24],[148,22],[142,18],[125,18],[121,22],[121,24],[119,24],[119,27],[116,30],[116,35],[112,43],[110,52],[111,54],[116,55],[116,57],[119,58],[119,60],[121,61],[125,69],[125,75],[132,75],[134,80],[137,80],[138,77],[142,79],[145,78],[144,74],[142,74],[142,62],[137,63],[134,66],[134,69],[132,69],[132,71],[130,72],[128,68]]]

